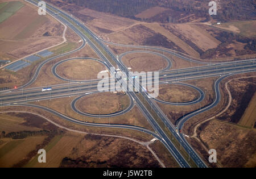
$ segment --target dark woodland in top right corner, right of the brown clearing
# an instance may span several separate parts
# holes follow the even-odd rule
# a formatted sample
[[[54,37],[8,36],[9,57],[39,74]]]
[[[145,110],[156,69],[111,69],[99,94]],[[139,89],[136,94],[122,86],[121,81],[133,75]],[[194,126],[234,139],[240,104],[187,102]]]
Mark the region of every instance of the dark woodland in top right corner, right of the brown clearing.
[[[195,14],[197,18],[206,17],[207,20],[211,17],[221,22],[229,20],[251,20],[256,19],[255,16],[255,1],[254,0],[230,0],[218,1],[217,15],[210,16],[208,14],[208,0],[160,0],[160,6],[170,8],[172,10],[181,11],[185,14]],[[221,8],[219,8],[219,6]]]

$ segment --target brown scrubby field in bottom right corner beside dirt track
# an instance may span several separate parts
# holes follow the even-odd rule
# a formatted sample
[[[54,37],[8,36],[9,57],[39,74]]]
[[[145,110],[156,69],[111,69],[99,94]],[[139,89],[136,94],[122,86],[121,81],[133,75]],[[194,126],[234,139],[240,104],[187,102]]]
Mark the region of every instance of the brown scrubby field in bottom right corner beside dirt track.
[[[218,163],[223,167],[256,166],[256,131],[232,124],[210,120],[204,123],[199,138],[217,151]]]

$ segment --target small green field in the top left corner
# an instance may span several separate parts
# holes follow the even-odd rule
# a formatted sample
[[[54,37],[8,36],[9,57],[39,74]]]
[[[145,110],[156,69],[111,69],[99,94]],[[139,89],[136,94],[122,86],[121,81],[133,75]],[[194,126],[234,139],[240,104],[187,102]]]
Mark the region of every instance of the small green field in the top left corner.
[[[5,2],[0,4],[0,23],[15,14],[23,4],[21,2]]]

